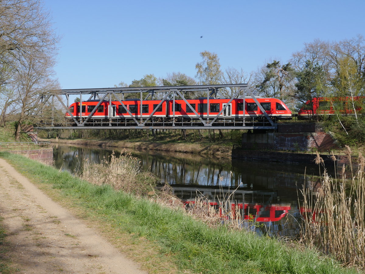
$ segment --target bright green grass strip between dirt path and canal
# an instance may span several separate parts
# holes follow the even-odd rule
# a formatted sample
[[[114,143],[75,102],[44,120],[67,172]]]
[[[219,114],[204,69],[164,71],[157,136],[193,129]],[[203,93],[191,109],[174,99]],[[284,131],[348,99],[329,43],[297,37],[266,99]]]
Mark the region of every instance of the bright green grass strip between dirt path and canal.
[[[51,185],[62,200],[76,203],[85,212],[105,220],[114,235],[133,233],[137,239],[157,243],[161,254],[170,258],[180,273],[185,269],[193,273],[230,274],[356,273],[339,267],[334,260],[319,258],[314,251],[299,250],[253,233],[228,231],[223,225],[210,228],[182,210],[164,208],[107,185],[92,185],[20,155],[0,153],[0,157],[20,172],[28,171],[29,178]]]

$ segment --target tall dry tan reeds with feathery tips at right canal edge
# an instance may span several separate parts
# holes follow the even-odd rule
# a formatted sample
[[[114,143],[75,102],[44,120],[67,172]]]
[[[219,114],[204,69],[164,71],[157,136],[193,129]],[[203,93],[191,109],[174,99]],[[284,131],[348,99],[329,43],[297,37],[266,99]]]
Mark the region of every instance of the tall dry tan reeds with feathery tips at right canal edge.
[[[354,172],[351,150],[347,147],[350,178],[345,166],[341,178],[331,178],[325,171],[322,187],[316,192],[303,189],[303,241],[346,265],[365,267],[365,159],[359,153]],[[335,160],[334,156],[332,158]],[[317,164],[323,161],[317,155]]]

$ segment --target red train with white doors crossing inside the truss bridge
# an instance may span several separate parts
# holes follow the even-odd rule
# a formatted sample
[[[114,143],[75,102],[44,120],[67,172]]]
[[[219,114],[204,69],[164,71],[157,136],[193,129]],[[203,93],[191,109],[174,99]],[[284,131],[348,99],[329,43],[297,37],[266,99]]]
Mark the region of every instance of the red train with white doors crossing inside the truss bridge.
[[[216,116],[220,110],[229,102],[230,99],[209,99],[209,117]],[[279,99],[275,98],[257,98],[258,102],[264,108],[266,113],[273,119],[291,119],[292,112]],[[173,100],[165,100],[157,108],[160,100],[142,100],[127,99],[122,101],[127,107],[133,117],[149,117],[153,113],[153,117],[173,117],[177,118],[193,118],[196,114],[194,109],[200,117],[208,117],[208,100],[205,99],[189,99],[187,100],[191,107],[184,100],[175,100],[173,107]],[[99,100],[89,100],[81,104],[81,117],[88,117],[94,110]],[[111,107],[111,109],[110,109]],[[157,108],[157,109],[156,109]],[[141,111],[142,110],[142,111]],[[69,107],[70,113],[76,118],[80,117],[80,102],[71,104]],[[260,110],[252,98],[245,99],[245,111],[243,111],[243,99],[233,99],[229,106],[220,114],[220,118],[234,119],[239,117],[253,117],[262,118],[264,113]],[[69,113],[66,113],[66,118],[71,118]],[[103,101],[91,115],[91,118],[105,119],[105,118],[123,118],[131,119],[132,116],[122,106],[119,101],[112,101],[111,106],[108,101]]]

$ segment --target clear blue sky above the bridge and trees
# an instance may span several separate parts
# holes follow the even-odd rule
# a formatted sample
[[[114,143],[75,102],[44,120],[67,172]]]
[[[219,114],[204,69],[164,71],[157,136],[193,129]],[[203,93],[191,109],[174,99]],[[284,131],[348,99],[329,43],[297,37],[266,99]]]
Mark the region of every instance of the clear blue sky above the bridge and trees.
[[[365,35],[364,0],[44,0],[63,36],[55,71],[61,88],[107,88],[153,73],[195,77],[200,52],[222,69],[286,63],[314,39]],[[203,38],[200,38],[203,36]]]

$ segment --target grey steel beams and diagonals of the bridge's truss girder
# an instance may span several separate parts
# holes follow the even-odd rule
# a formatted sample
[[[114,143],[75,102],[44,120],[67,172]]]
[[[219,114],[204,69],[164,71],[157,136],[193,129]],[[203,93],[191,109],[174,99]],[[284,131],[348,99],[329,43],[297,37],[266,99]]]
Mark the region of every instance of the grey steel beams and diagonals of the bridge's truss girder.
[[[228,103],[220,110],[218,114],[211,114],[209,113],[209,100],[211,96],[216,98],[217,96],[220,96],[224,98],[222,95],[222,92],[220,92],[223,88],[237,88],[237,91],[235,94],[230,98]],[[207,94],[207,118],[203,119],[200,117],[200,115],[196,112],[195,109],[193,109],[188,102],[188,100],[185,98],[184,94],[185,92],[189,91],[200,91],[200,92],[206,92]],[[246,98],[252,98],[254,102],[257,104],[257,106],[260,108],[262,113],[265,115],[265,119],[267,122],[270,123],[270,126],[255,126],[251,123],[249,125],[246,125],[246,117],[245,115],[239,117],[239,121],[241,123],[235,123],[234,126],[228,126],[228,125],[217,125],[219,119],[222,119],[222,116],[220,116],[226,108],[230,105],[230,103],[233,101],[233,99],[237,98],[238,94],[243,91],[243,106],[245,106],[245,100]],[[143,100],[148,99],[151,97],[151,100],[154,99],[154,96],[158,93],[164,92],[162,96],[160,96],[161,102],[154,108],[152,113],[148,117],[142,117],[140,115],[139,117],[137,115],[133,115],[126,107],[126,105],[122,102],[124,100],[124,96],[130,93],[139,93],[139,100],[141,101],[140,104],[140,113],[142,113],[142,102]],[[246,94],[248,95],[246,97]],[[73,114],[69,111],[69,96],[70,95],[78,95],[80,98],[80,102],[82,102],[83,95],[87,96],[87,100],[94,99],[99,100],[96,104],[96,106],[93,108],[91,113],[88,115],[88,117],[74,117]],[[143,96],[145,95],[145,96]],[[64,103],[64,100],[62,99],[62,96],[66,99],[66,104]],[[95,113],[97,107],[106,99],[109,101],[109,105],[111,105],[112,102],[112,96],[116,98],[120,102],[120,104],[124,107],[124,109],[127,111],[127,113],[130,115],[131,118],[129,118],[129,121],[134,122],[134,125],[113,125],[113,118],[112,118],[112,108],[110,107],[108,110],[108,117],[109,124],[107,126],[89,126],[88,123],[90,123],[92,119],[93,113]],[[186,125],[186,126],[180,126],[177,121],[177,117],[175,116],[175,98],[176,96],[180,96],[182,100],[193,110],[193,113],[196,115],[196,117],[191,117],[192,119],[195,119],[197,122],[199,122],[201,125]],[[41,101],[43,103],[46,103],[47,100],[54,101],[57,99],[61,105],[64,107],[65,113],[69,113],[70,118],[74,122],[75,126],[65,126],[65,125],[54,125],[53,121],[51,121],[50,126],[35,126],[35,129],[276,129],[277,125],[272,121],[272,119],[269,117],[269,115],[266,113],[264,108],[261,106],[261,104],[258,102],[257,98],[253,95],[253,93],[249,90],[247,84],[226,84],[226,85],[190,85],[190,86],[163,86],[163,87],[123,87],[123,88],[94,88],[94,89],[76,89],[76,90],[54,90],[50,91],[49,94],[45,94],[42,96]],[[161,106],[161,104],[166,100],[170,99],[173,100],[173,115],[171,125],[149,125],[147,122],[149,122],[153,118],[153,114],[157,111],[157,109]],[[205,98],[204,98],[205,99]],[[82,113],[82,104],[80,104],[80,110],[79,113]],[[53,111],[53,109],[52,109]],[[53,114],[52,114],[52,120],[53,120]],[[216,122],[217,121],[217,122]],[[237,118],[236,120],[237,121]],[[236,125],[237,124],[237,125]]]

